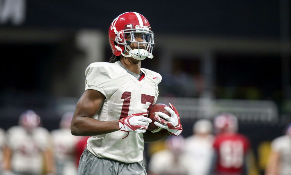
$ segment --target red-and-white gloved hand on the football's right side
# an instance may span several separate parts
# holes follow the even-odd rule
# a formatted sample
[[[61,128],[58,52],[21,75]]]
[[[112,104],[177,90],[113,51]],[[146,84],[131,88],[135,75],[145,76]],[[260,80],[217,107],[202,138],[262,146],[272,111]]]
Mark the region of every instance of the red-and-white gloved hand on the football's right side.
[[[171,135],[179,136],[181,132],[183,131],[182,125],[180,123],[180,116],[176,108],[173,106],[173,104],[170,103],[170,107],[165,107],[165,110],[168,111],[171,114],[171,117],[169,117],[167,114],[158,112],[158,115],[163,117],[164,119],[155,116],[155,125],[158,127],[167,129],[168,132]]]

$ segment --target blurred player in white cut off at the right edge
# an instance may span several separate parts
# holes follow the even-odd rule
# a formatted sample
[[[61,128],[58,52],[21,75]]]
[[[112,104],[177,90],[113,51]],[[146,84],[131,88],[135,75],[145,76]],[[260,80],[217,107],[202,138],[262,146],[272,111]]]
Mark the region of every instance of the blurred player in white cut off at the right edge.
[[[285,128],[285,134],[271,143],[271,153],[267,163],[266,175],[291,174],[291,123]]]

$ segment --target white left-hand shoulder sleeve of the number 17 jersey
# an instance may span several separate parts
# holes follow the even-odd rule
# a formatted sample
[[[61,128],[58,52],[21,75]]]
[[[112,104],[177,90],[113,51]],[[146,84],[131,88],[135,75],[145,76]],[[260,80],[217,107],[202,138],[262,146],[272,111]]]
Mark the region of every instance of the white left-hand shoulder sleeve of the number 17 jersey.
[[[108,99],[116,90],[116,87],[108,86],[113,79],[118,77],[116,69],[118,67],[112,63],[97,62],[90,64],[85,71],[85,90],[97,90]]]

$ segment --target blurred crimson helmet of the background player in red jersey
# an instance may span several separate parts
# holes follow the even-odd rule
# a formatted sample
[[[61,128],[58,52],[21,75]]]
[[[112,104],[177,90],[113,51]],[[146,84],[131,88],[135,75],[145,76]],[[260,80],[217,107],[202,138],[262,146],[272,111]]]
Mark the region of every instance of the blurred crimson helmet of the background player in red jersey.
[[[222,113],[214,118],[214,127],[217,132],[237,132],[237,117],[232,113]]]

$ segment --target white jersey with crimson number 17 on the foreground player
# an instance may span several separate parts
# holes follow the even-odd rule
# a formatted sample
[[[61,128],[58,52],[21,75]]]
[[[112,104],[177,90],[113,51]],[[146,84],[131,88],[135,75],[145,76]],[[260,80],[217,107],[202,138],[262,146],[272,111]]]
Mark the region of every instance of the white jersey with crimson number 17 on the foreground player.
[[[94,116],[101,121],[112,121],[134,113],[147,113],[158,97],[157,85],[162,76],[148,69],[141,69],[141,81],[127,73],[118,63],[92,63],[86,69],[85,90],[101,92],[105,101]],[[122,139],[128,134],[125,139]],[[97,157],[107,157],[126,163],[143,160],[143,134],[115,131],[92,136],[88,150]]]

